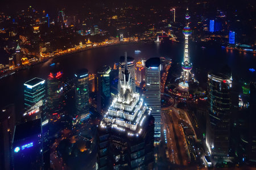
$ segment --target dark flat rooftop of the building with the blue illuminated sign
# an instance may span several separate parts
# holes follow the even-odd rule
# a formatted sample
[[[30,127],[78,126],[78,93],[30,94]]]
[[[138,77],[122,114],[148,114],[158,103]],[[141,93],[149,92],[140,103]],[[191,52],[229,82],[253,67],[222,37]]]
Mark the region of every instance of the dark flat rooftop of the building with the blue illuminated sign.
[[[15,126],[14,141],[28,138],[41,133],[41,119],[28,121]]]

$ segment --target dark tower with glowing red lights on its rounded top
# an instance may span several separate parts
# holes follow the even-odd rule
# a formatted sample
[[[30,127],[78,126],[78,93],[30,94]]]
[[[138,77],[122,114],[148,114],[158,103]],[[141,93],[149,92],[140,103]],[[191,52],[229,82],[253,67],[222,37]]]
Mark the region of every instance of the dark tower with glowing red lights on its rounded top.
[[[49,121],[56,121],[63,114],[63,72],[54,64],[47,81],[47,113]]]

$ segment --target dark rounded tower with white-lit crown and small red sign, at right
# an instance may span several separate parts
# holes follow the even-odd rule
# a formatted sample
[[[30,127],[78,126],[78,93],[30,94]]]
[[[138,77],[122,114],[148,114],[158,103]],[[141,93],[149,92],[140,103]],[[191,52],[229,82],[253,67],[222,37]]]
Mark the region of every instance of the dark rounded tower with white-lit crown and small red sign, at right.
[[[207,146],[214,156],[229,155],[232,77],[208,74]]]

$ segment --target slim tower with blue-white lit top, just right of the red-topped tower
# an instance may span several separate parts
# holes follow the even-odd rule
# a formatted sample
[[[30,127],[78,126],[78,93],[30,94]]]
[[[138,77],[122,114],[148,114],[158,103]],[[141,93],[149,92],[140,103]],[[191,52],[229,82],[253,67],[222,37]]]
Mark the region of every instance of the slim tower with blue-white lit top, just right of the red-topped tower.
[[[89,75],[87,69],[80,69],[75,73],[76,87],[76,115],[77,118],[84,119],[89,114]]]

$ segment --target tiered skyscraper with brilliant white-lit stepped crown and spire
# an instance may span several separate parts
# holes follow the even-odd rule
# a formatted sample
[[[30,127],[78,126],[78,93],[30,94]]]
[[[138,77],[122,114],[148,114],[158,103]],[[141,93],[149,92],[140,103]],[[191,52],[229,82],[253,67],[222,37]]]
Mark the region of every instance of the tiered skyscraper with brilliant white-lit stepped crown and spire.
[[[98,127],[98,169],[152,169],[154,164],[154,118],[133,93],[125,58],[121,90]]]

